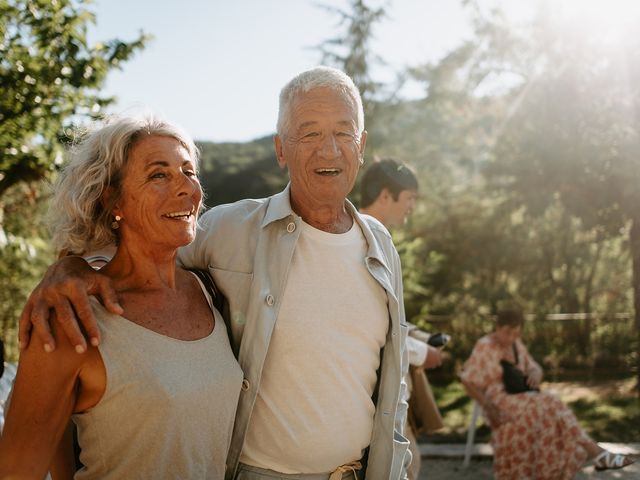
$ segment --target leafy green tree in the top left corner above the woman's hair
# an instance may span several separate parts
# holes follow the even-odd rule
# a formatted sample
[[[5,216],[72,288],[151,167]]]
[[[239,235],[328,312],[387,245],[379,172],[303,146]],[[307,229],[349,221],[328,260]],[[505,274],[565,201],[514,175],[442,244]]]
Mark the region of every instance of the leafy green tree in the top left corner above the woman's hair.
[[[67,127],[113,101],[99,89],[148,37],[89,45],[84,0],[0,1],[0,198],[62,162]]]

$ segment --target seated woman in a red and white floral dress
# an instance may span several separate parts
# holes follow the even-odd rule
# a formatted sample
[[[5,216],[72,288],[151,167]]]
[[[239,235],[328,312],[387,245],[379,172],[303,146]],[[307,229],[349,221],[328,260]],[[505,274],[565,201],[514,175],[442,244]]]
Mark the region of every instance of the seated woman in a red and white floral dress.
[[[498,313],[495,332],[478,340],[461,374],[491,426],[496,478],[570,479],[590,458],[596,470],[633,463],[600,448],[559,398],[537,390],[542,369],[520,341],[522,323],[518,311]],[[501,361],[526,375],[523,387],[528,391],[507,393]]]

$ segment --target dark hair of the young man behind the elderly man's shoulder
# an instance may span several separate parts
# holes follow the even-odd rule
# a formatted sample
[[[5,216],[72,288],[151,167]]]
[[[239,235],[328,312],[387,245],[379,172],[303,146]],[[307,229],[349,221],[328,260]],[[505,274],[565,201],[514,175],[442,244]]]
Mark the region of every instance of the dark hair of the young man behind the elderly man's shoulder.
[[[418,178],[406,164],[392,158],[374,161],[360,182],[361,207],[366,208],[375,202],[385,188],[397,201],[403,190],[418,190]]]

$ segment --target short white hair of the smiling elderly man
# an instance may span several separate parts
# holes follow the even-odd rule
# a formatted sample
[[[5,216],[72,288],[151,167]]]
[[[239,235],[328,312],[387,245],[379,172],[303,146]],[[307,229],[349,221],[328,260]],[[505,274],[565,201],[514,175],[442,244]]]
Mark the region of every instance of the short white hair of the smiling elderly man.
[[[353,101],[358,112],[358,136],[364,130],[364,109],[358,87],[346,73],[331,67],[315,67],[299,73],[280,91],[280,106],[278,109],[278,135],[285,137],[289,129],[291,105],[300,93],[306,93],[315,88],[330,88],[347,95]]]

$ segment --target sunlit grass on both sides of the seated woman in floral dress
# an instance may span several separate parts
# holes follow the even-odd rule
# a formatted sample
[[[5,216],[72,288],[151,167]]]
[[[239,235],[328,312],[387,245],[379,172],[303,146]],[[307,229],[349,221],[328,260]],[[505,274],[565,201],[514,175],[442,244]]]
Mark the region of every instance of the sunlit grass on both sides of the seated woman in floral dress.
[[[640,442],[640,399],[633,392],[635,378],[585,382],[544,382],[578,418],[585,431],[598,442]],[[445,427],[423,435],[430,443],[464,443],[472,403],[458,381],[431,385]],[[476,429],[476,442],[488,442],[491,432],[484,424]]]

